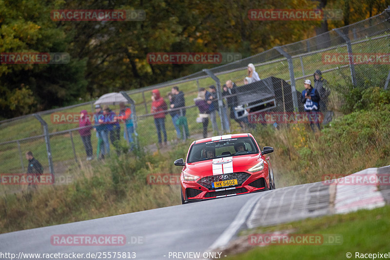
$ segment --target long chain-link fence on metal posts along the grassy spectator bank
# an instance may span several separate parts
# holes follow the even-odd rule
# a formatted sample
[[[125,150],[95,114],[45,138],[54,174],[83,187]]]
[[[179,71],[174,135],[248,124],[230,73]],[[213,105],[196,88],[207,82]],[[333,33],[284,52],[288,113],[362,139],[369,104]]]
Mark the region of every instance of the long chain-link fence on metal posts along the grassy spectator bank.
[[[138,148],[154,151],[183,139],[250,131],[259,123],[271,122],[276,127],[286,122],[286,117],[275,119],[272,113],[280,116],[304,111],[301,97],[305,80],[323,88],[318,105],[326,114],[332,109],[330,93],[337,93],[340,87],[388,87],[389,14],[387,9],[311,39],[127,91],[119,94],[125,98],[124,107],[117,100],[106,100],[100,103],[101,108],[87,102],[3,120],[0,172],[26,173],[30,163],[27,151],[39,160],[43,172],[59,174],[81,161],[96,161],[108,154]],[[248,66],[251,63],[254,66]],[[80,120],[82,110],[87,114]],[[91,125],[85,125],[85,118]]]

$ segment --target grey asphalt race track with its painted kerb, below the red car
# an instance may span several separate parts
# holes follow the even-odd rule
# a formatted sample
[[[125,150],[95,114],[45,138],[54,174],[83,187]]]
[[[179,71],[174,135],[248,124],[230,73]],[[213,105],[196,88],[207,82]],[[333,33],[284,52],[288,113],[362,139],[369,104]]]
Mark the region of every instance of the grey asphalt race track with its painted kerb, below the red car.
[[[369,168],[354,175],[364,176],[378,172],[378,168]],[[223,248],[240,229],[343,213],[359,208],[379,207],[388,200],[385,197],[388,197],[389,193],[382,194],[377,191],[376,186],[370,185],[365,188],[367,190],[362,195],[361,186],[356,189],[352,185],[339,187],[316,182],[96,220],[22,230],[1,234],[0,252],[14,253],[17,257],[20,253],[84,254],[82,258],[73,259],[95,257],[99,259],[98,252],[111,252],[112,256],[113,252],[129,252],[126,253],[126,259],[134,259],[132,252],[135,252],[135,259],[140,260],[194,259],[192,255],[181,255],[180,252],[183,254],[199,252],[200,258],[203,258],[204,252]],[[359,196],[364,196],[364,199]],[[53,242],[53,237],[61,235],[72,237],[115,235],[125,237],[126,241],[123,245],[105,245],[104,242],[99,245],[80,245],[76,240],[73,240],[74,243],[68,241],[69,244],[66,245]],[[86,258],[88,253],[89,258]],[[91,254],[97,253],[97,256],[91,257]],[[224,258],[223,255],[216,256]],[[100,259],[104,259],[103,255],[100,255]]]

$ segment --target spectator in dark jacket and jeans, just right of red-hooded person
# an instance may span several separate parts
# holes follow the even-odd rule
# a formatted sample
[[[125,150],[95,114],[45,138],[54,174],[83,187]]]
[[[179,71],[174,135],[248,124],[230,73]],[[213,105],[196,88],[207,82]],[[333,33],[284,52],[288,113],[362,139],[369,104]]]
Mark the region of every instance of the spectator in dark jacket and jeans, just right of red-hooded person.
[[[174,86],[171,90],[172,93],[172,100],[173,103],[171,104],[172,109],[183,107],[181,110],[176,110],[174,113],[176,115],[172,118],[172,121],[174,124],[179,128],[181,134],[181,138],[183,140],[189,138],[190,131],[188,130],[188,123],[186,118],[186,109],[184,108],[186,106],[186,101],[184,99],[184,93],[183,91],[179,91],[179,88],[177,86]],[[183,130],[184,127],[184,130]],[[176,128],[176,127],[175,127]],[[177,129],[176,129],[177,131]],[[185,135],[184,135],[185,132]],[[178,137],[180,138],[180,137]]]

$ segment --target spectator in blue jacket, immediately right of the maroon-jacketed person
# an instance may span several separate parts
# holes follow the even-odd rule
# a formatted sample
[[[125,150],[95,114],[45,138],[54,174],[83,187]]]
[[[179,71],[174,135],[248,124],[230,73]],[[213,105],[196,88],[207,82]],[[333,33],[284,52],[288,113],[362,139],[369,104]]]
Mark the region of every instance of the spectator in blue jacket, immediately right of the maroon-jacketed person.
[[[101,110],[100,105],[95,106],[95,129],[98,136],[98,159],[104,159],[105,155],[110,154],[110,142],[108,141],[108,130],[106,129],[106,125],[103,123],[105,121],[103,111]],[[101,152],[101,157],[99,156]]]

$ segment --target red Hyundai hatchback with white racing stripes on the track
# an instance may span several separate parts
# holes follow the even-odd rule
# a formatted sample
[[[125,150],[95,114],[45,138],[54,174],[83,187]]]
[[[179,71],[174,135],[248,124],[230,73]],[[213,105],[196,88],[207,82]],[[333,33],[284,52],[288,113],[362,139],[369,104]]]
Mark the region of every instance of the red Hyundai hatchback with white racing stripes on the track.
[[[181,202],[227,197],[275,189],[269,157],[273,148],[263,151],[251,134],[215,136],[194,141],[180,175]]]

